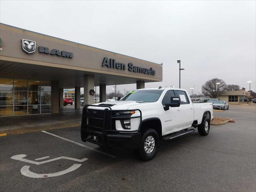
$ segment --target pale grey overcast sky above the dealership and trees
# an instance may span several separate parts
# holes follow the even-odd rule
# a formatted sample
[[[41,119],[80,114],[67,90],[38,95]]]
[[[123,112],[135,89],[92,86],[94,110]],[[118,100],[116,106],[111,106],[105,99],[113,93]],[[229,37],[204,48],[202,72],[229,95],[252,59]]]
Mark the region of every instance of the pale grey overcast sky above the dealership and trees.
[[[211,78],[246,90],[251,80],[256,90],[255,2],[1,0],[0,22],[163,63],[163,81],[146,88],[178,87],[181,60],[181,88],[189,92]]]

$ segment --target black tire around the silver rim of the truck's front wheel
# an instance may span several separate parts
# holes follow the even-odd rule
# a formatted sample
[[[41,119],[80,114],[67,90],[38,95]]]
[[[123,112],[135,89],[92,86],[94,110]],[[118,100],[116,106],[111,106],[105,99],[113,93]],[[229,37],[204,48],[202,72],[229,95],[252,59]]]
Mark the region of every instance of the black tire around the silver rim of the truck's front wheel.
[[[145,143],[146,139],[149,136],[152,136],[154,138],[155,146],[154,146],[154,149],[153,149],[152,152],[147,153],[145,151],[145,149],[144,149],[144,143]],[[146,132],[144,132],[142,134],[142,137],[141,137],[141,140],[140,140],[140,147],[139,147],[140,158],[142,160],[144,160],[144,161],[152,160],[156,156],[156,153],[158,152],[158,148],[159,148],[159,136],[158,136],[158,133],[154,129],[146,130]]]

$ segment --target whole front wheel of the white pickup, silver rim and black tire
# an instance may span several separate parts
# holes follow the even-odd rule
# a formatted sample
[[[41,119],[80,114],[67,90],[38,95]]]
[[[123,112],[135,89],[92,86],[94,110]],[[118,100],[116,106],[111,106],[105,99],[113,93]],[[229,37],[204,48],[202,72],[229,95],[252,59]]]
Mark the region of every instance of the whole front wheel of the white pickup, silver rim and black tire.
[[[144,161],[152,160],[159,148],[159,136],[156,130],[148,129],[141,137],[139,153]]]

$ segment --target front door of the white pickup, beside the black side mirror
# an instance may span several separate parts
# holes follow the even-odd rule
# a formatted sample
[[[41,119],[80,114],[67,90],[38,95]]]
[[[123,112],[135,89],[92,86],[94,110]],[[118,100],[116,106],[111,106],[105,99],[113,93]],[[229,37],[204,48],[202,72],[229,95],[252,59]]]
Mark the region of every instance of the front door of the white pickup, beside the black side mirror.
[[[162,99],[162,105],[163,105],[163,116],[162,116],[162,132],[163,135],[169,134],[170,132],[173,132],[174,130],[181,128],[181,113],[180,113],[180,107],[170,107],[169,110],[164,110],[164,106],[166,103],[170,103],[171,96],[175,96],[173,90],[168,90],[164,98]]]

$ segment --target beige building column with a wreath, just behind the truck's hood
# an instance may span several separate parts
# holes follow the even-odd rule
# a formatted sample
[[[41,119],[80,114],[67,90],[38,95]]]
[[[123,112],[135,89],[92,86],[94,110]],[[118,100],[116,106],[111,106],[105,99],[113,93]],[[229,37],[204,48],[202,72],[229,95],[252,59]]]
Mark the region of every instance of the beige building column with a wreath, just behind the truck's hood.
[[[94,75],[84,75],[84,105],[94,104],[94,96],[89,94],[90,90],[94,90]]]

